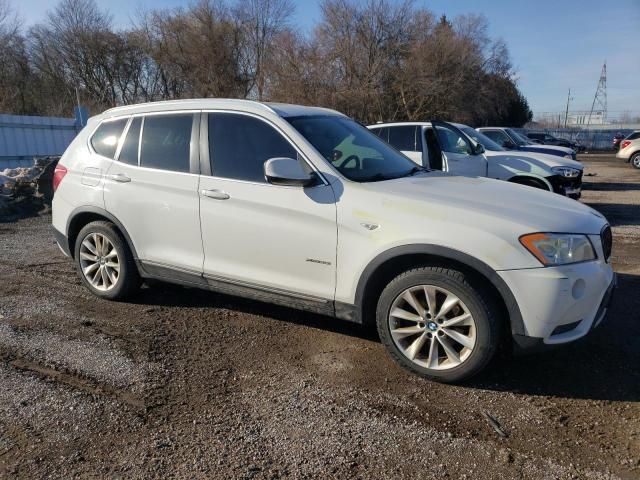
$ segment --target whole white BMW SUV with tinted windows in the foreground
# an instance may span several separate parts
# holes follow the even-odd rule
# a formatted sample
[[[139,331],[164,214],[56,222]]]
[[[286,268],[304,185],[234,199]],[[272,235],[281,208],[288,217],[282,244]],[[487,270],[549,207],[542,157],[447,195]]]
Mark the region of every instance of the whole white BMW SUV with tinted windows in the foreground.
[[[504,344],[583,337],[615,285],[598,212],[427,170],[321,108],[115,108],[69,146],[54,188],[58,244],[99,297],[156,279],[376,324],[395,360],[444,382]]]

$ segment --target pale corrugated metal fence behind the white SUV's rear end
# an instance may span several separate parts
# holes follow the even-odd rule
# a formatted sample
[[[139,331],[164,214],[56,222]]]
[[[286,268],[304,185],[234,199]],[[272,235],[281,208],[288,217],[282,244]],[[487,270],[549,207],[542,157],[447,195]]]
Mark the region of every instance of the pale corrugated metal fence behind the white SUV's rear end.
[[[0,114],[0,171],[30,167],[34,158],[62,155],[87,118],[84,107],[76,108],[75,118]]]

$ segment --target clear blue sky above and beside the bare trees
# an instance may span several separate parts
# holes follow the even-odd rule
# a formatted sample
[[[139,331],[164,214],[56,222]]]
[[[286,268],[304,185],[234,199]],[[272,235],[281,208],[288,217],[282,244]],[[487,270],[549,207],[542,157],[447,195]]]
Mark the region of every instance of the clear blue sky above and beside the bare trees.
[[[46,19],[55,0],[10,0],[25,25]],[[188,5],[188,0],[96,0],[117,27],[140,10]],[[364,1],[364,0],[363,0]],[[389,0],[393,3],[396,0]],[[400,0],[397,0],[400,1]],[[319,1],[293,0],[293,25],[313,30]],[[640,115],[640,0],[415,0],[436,15],[480,13],[489,34],[509,48],[518,86],[535,113],[589,110],[607,62],[609,117]]]

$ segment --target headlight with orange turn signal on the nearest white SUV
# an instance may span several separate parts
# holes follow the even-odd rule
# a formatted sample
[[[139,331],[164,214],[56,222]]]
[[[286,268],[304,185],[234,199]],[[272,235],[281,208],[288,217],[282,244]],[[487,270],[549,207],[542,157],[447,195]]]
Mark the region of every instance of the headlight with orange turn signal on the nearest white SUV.
[[[545,266],[567,265],[596,259],[596,252],[586,235],[572,233],[531,233],[520,243]]]

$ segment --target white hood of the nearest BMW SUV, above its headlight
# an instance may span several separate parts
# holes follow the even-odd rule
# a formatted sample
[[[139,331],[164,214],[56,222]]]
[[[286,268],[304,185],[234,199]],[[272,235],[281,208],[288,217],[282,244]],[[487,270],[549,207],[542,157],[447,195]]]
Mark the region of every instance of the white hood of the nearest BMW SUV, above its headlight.
[[[580,202],[502,180],[429,172],[361,185],[382,195],[383,203],[385,200],[395,202],[396,208],[437,212],[439,216],[485,230],[495,228],[496,234],[566,232],[597,235],[607,223],[602,214]]]

